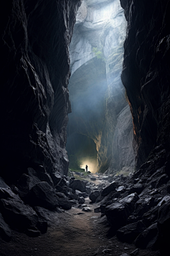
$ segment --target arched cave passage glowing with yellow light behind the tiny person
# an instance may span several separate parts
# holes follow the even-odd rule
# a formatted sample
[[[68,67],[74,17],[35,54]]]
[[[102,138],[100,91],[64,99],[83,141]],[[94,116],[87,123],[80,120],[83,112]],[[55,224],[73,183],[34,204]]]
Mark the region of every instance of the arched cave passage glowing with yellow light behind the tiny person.
[[[69,155],[69,167],[85,169],[88,165],[90,172],[97,172],[97,150],[94,140],[85,135],[73,133],[67,139],[67,152]]]

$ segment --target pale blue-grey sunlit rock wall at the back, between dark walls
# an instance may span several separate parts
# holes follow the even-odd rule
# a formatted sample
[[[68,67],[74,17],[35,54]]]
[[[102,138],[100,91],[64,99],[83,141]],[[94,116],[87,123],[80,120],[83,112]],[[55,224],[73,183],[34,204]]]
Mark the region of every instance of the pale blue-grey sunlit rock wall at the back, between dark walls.
[[[84,0],[77,13],[69,48],[72,113],[69,115],[68,143],[72,140],[72,133],[80,133],[94,140],[99,172],[106,171],[108,167],[109,172],[118,172],[130,165],[134,167],[132,135],[129,137],[130,133],[126,133],[128,143],[121,150],[120,144],[115,144],[114,139],[114,136],[122,136],[125,130],[132,130],[132,120],[131,123],[123,122],[126,117],[121,112],[126,107],[125,114],[130,117],[120,79],[125,30],[125,16],[120,1]],[[122,132],[114,135],[115,127],[119,130],[118,118],[122,118]],[[121,153],[122,150],[123,156],[118,156],[117,152]]]

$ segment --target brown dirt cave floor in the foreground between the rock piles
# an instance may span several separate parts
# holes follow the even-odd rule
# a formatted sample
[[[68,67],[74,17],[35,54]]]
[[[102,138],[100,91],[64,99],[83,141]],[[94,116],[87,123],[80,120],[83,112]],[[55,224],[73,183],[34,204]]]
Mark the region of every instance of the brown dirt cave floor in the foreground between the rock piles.
[[[92,211],[84,212],[82,208],[57,213],[47,233],[38,238],[13,231],[11,242],[0,240],[1,256],[120,256],[130,254],[135,245],[121,243],[115,236],[108,238],[109,227],[99,224],[100,213],[94,213],[96,204],[86,204]],[[84,214],[81,214],[84,213]],[[139,256],[157,256],[157,252],[140,250]]]

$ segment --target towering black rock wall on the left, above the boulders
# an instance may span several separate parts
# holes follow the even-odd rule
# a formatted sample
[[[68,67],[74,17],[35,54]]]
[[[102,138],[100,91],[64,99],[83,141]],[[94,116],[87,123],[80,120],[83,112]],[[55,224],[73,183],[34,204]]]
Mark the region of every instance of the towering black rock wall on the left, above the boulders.
[[[1,3],[1,176],[67,174],[69,43],[78,0]]]

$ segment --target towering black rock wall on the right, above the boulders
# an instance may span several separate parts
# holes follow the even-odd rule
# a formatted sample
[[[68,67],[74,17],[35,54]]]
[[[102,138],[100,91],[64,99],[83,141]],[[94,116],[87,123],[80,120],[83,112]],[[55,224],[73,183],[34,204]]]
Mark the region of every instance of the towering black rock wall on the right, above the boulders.
[[[160,145],[169,159],[170,3],[122,0],[121,4],[128,21],[122,80],[132,112],[139,168]]]

